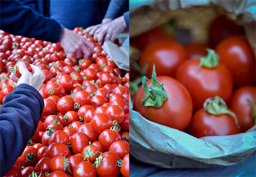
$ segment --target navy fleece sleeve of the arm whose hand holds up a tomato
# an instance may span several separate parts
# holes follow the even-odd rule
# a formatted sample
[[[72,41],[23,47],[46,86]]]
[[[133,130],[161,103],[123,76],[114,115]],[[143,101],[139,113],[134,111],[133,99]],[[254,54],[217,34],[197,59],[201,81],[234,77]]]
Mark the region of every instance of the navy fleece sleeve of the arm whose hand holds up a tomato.
[[[43,110],[43,97],[28,84],[20,84],[6,95],[0,108],[1,177],[12,168],[35,134]]]

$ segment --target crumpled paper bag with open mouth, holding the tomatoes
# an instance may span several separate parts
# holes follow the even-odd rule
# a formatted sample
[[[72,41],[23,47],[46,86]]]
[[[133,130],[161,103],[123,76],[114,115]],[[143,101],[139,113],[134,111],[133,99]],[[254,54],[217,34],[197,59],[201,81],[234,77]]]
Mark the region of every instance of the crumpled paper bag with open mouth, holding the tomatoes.
[[[213,9],[210,8],[212,6]],[[256,5],[255,1],[250,0],[156,0],[145,2],[130,0],[130,37],[135,37],[166,23],[171,17],[177,17],[183,13],[183,9],[189,12],[195,11],[197,14],[194,14],[193,17],[200,13],[203,14],[201,16],[208,14],[204,22],[210,23],[219,13],[219,9],[216,11],[216,7],[229,12],[234,20],[239,14],[243,14],[242,22],[247,32],[247,39],[255,51]],[[212,19],[209,20],[211,15]],[[193,26],[195,25],[197,24],[193,24]],[[209,24],[206,25],[209,26]],[[206,34],[199,34],[206,36]],[[204,38],[200,40],[202,41]],[[144,163],[162,168],[229,166],[243,161],[256,150],[256,125],[241,134],[198,139],[183,131],[145,119],[140,113],[132,110],[131,102],[130,117],[131,155]]]

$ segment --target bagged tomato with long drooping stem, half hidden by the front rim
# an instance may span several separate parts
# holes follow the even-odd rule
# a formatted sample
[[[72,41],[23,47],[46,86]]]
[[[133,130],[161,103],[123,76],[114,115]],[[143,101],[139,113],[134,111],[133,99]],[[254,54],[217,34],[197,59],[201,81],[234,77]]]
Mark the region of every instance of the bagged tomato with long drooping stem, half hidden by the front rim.
[[[224,109],[229,113],[227,111],[221,112]],[[214,114],[215,112],[218,114]],[[197,138],[225,136],[241,132],[236,124],[236,115],[228,110],[226,103],[217,96],[207,99],[204,102],[204,108],[193,114],[187,131]]]

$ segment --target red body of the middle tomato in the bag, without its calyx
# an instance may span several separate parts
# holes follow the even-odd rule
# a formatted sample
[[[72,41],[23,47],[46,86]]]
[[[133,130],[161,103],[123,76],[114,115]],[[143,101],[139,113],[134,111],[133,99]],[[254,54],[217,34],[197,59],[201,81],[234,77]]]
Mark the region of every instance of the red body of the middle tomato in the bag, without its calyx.
[[[194,111],[202,108],[204,101],[218,95],[227,101],[233,90],[233,80],[230,71],[219,64],[214,68],[201,66],[200,60],[188,60],[177,69],[176,79],[189,91]]]

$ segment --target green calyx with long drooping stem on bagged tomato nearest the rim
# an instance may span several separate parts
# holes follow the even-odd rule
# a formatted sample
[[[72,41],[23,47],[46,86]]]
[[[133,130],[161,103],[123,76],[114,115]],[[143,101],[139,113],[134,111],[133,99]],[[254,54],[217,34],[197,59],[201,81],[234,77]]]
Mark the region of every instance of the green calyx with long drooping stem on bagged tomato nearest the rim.
[[[221,97],[215,96],[215,97],[207,98],[204,101],[203,107],[204,107],[204,110],[207,111],[209,114],[213,114],[213,115],[230,114],[232,117],[234,117],[237,127],[240,128],[238,125],[236,114],[227,110],[227,103],[225,103],[225,101]]]

